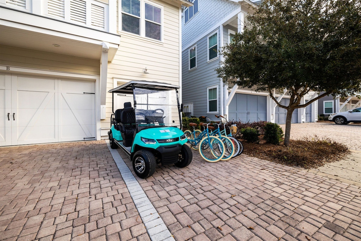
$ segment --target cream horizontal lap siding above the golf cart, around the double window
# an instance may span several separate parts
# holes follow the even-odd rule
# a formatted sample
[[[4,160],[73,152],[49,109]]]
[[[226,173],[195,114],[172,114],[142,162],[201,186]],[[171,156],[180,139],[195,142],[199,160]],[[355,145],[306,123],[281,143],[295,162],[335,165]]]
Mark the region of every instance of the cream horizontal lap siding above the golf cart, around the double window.
[[[119,31],[121,43],[112,63],[108,64],[107,91],[114,87],[113,78],[122,79],[119,81],[124,82],[147,80],[180,84],[179,9],[163,1],[158,0],[155,3],[164,6],[163,41],[157,42]],[[145,67],[149,74],[143,73]],[[109,93],[106,98],[106,120],[102,120],[101,127],[109,127],[111,114],[112,95]]]

